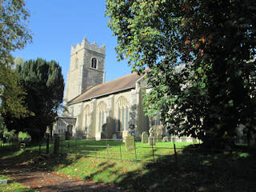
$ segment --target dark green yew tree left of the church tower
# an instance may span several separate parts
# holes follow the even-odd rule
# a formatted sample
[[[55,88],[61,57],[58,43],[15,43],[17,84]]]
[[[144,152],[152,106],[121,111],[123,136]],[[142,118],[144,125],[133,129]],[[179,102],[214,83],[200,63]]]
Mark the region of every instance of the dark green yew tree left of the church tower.
[[[46,132],[46,126],[51,126],[58,115],[62,104],[64,79],[62,68],[55,61],[47,62],[42,58],[29,60],[16,66],[16,71],[22,78],[22,86],[27,92],[25,105],[34,115],[26,118],[5,116],[9,130],[27,131],[32,142],[38,142]]]

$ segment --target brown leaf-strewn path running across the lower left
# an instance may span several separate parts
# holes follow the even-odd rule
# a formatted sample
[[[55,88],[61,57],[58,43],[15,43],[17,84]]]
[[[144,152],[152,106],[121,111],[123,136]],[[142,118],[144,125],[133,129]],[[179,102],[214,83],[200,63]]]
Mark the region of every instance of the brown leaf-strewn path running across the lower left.
[[[0,172],[14,182],[27,186],[29,189],[26,191],[120,191],[96,182],[86,182],[82,179],[70,178],[64,174],[57,174],[54,171],[42,170],[34,164],[40,159],[23,160],[25,159],[0,160]],[[0,191],[10,190],[7,189],[7,186],[6,189],[2,186]],[[24,191],[24,189],[14,191]]]

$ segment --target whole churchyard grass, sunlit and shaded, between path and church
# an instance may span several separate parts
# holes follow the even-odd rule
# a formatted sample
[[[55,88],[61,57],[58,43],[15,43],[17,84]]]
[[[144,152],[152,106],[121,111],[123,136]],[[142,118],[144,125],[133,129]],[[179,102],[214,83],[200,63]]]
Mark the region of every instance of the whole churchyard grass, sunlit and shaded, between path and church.
[[[90,147],[92,141],[78,141],[77,154],[57,155],[51,158],[38,157],[38,147],[30,147],[16,156],[9,158],[24,158],[30,162],[31,169],[52,170],[58,174],[66,174],[71,178],[82,178],[93,182],[101,182],[106,185],[120,187],[128,191],[253,191],[256,189],[254,175],[256,173],[255,149],[247,149],[246,146],[238,146],[232,152],[198,150],[198,146],[187,146],[185,143],[177,143],[177,148],[183,148],[174,155],[174,150],[156,150],[153,162],[151,151],[141,149],[141,153],[148,153],[148,161],[135,161],[134,150],[129,153],[121,143],[123,154],[121,159],[106,157],[106,148],[97,148],[97,158],[93,153],[82,151],[81,145]],[[63,145],[66,142],[62,143]],[[75,141],[69,141],[70,151],[75,147]],[[106,142],[96,142],[98,146],[106,146]],[[111,144],[111,145],[110,145]],[[191,144],[191,143],[190,143]],[[111,151],[120,150],[120,142],[109,145]],[[140,146],[140,143],[136,143]],[[159,142],[156,146],[171,147],[170,142]],[[74,147],[73,147],[74,146]],[[50,146],[50,153],[52,153]],[[79,150],[80,149],[80,152]],[[90,148],[89,148],[90,149]],[[42,152],[44,146],[42,146]],[[137,151],[139,152],[139,151]],[[88,153],[88,154],[86,154]],[[100,158],[100,155],[104,158]],[[113,154],[116,155],[116,154]],[[121,158],[114,156],[116,158]],[[27,159],[30,158],[30,159]],[[7,158],[8,159],[8,158]]]

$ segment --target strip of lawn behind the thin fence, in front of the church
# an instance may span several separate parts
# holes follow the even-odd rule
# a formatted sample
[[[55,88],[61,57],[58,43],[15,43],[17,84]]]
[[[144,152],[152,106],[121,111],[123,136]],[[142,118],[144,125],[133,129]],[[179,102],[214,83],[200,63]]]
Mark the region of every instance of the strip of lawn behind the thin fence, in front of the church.
[[[184,146],[193,144],[192,142],[177,142],[175,146],[177,151],[182,150]],[[108,147],[107,147],[108,146]],[[156,142],[152,147],[148,143],[135,143],[136,150],[127,151],[124,142],[115,141],[93,141],[93,140],[70,140],[60,142],[60,154],[74,154],[78,156],[90,156],[97,158],[110,158],[119,160],[142,160],[154,161],[166,155],[174,154],[173,142]],[[28,150],[38,150],[38,146],[27,148]],[[46,152],[46,144],[41,146],[43,153]],[[54,151],[54,144],[50,143],[50,153]],[[154,156],[153,156],[154,154]]]

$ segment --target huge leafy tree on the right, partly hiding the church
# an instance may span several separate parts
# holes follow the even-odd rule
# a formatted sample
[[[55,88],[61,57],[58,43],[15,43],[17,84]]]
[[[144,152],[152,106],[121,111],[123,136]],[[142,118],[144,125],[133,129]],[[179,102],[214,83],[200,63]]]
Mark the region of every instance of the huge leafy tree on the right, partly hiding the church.
[[[238,125],[255,126],[254,0],[107,0],[119,59],[148,66],[147,114],[170,134],[232,144]]]

